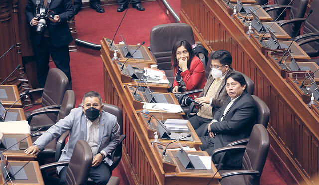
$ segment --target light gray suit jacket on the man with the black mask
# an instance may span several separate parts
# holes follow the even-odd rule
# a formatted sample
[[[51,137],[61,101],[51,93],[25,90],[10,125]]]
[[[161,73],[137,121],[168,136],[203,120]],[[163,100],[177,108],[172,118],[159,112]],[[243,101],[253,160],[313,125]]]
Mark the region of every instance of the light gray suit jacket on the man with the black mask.
[[[72,109],[69,115],[51,126],[34,142],[34,144],[38,145],[42,150],[52,139],[59,137],[67,130],[70,132],[70,137],[62,150],[59,161],[70,161],[75,143],[80,139],[86,140],[87,125],[82,107]],[[116,116],[102,111],[99,123],[98,153],[103,150],[107,154],[110,154],[118,144],[120,137],[119,133],[120,127]],[[57,168],[58,172],[61,168],[62,167]]]

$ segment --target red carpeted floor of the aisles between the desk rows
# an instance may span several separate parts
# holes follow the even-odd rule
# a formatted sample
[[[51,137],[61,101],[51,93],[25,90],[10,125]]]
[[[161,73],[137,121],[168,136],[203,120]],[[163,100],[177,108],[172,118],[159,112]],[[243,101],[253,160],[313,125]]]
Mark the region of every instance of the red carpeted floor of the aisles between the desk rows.
[[[170,0],[176,1],[179,0]],[[180,2],[179,2],[180,3]],[[150,30],[153,26],[170,23],[166,14],[162,11],[156,1],[144,2],[145,11],[140,12],[130,7],[123,20],[115,41],[121,41],[120,33],[128,44],[137,44],[145,41],[149,45]],[[180,7],[175,5],[174,7]],[[76,30],[78,38],[92,43],[100,44],[102,37],[112,39],[124,12],[117,12],[117,5],[104,6],[105,13],[97,13],[90,8],[84,8],[76,15]],[[85,92],[95,90],[102,96],[103,93],[103,65],[100,56],[90,55],[86,52],[70,52],[72,89],[76,95],[76,105],[82,101]],[[52,62],[53,63],[53,62]],[[54,64],[50,64],[52,67]],[[104,97],[103,97],[104,98]],[[120,185],[127,185],[128,181],[120,166],[112,173],[113,176],[120,177]],[[266,161],[264,172],[261,177],[261,185],[285,185],[284,180],[276,171],[273,163]]]

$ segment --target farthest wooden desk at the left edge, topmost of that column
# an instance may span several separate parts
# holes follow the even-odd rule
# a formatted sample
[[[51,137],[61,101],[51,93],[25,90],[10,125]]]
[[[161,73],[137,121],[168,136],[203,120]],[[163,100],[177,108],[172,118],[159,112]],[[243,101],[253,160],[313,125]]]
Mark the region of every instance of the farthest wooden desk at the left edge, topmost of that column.
[[[8,96],[7,99],[0,99],[4,107],[10,107],[14,102],[16,102],[20,98],[19,91],[16,85],[1,85],[0,89],[4,89]],[[13,107],[22,108],[23,105],[21,100],[16,102],[16,104],[14,104]]]

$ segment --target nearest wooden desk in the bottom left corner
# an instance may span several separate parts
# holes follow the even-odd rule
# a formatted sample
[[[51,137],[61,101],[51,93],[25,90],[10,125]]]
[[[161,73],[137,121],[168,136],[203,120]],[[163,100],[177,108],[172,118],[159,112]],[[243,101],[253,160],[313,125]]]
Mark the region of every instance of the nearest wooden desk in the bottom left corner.
[[[27,163],[27,161],[9,161],[11,166],[23,166]],[[40,171],[39,163],[37,161],[30,161],[25,167],[24,167],[25,173],[27,175],[26,180],[12,180],[14,185],[44,185],[44,181],[42,178],[42,174]],[[5,182],[3,175],[3,172],[0,174],[0,183],[3,184]],[[12,185],[11,181],[7,182],[8,185]]]

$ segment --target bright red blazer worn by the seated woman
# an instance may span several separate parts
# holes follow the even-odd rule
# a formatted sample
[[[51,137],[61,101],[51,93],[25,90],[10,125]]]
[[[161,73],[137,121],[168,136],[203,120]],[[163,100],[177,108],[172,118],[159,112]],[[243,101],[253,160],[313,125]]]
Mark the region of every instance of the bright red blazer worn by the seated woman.
[[[175,80],[175,76],[177,73],[178,68],[174,71],[174,83],[173,87],[179,85],[178,82]],[[183,77],[183,80],[186,84],[186,90],[196,90],[196,89],[203,89],[206,84],[206,77],[205,77],[205,68],[203,62],[197,57],[194,56],[193,60],[190,63],[190,69],[181,72],[180,75]],[[196,95],[198,97],[199,93],[193,93],[189,96],[194,98],[193,96]]]

